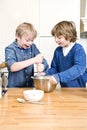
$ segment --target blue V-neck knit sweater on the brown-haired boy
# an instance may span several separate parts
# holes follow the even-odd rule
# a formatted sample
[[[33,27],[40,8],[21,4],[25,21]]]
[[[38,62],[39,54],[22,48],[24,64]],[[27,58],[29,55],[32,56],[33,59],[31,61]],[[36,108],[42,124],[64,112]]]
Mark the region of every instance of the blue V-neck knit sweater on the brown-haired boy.
[[[87,81],[86,54],[80,44],[75,43],[64,56],[62,47],[56,48],[47,74],[53,75],[61,87],[85,87]]]

